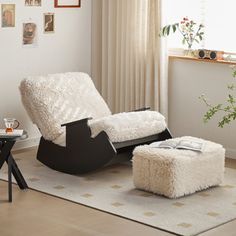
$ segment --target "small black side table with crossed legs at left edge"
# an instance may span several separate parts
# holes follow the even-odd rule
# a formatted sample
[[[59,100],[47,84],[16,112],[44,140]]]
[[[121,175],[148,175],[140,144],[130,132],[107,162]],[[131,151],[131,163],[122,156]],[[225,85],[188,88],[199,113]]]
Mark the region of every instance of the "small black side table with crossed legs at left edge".
[[[18,137],[0,135],[0,169],[2,168],[4,162],[7,162],[9,202],[12,202],[12,174],[14,175],[20,189],[28,188],[28,185],[11,154],[11,149],[13,148],[15,142],[19,140],[24,140],[27,137],[28,135],[26,131],[23,132],[22,136]]]

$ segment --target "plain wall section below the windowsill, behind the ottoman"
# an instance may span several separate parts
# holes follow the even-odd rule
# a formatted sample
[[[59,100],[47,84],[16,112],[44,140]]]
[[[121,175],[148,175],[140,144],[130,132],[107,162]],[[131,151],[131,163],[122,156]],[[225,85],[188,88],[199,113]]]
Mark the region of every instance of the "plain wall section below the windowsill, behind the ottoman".
[[[169,127],[174,136],[192,135],[224,145],[227,156],[236,158],[236,121],[218,128],[217,116],[203,123],[206,106],[198,97],[206,94],[213,103],[222,103],[233,82],[229,65],[170,59]]]

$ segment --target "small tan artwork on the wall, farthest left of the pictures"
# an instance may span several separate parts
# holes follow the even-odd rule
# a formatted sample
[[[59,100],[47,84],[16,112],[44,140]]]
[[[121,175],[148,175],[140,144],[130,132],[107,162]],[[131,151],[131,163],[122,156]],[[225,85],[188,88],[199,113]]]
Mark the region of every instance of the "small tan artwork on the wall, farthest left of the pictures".
[[[2,4],[2,27],[15,27],[15,4]]]

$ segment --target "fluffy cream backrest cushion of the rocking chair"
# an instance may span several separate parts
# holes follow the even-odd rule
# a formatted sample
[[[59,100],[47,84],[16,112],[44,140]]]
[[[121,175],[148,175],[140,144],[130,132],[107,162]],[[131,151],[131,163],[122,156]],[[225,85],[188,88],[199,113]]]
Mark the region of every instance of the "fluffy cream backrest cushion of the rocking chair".
[[[111,114],[89,75],[80,72],[32,76],[20,84],[23,105],[47,140],[63,132],[61,124]]]

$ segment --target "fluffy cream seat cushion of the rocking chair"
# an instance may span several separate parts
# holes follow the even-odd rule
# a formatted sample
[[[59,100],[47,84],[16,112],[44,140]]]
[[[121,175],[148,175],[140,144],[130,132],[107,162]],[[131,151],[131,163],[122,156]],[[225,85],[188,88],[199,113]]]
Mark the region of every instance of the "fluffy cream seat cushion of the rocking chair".
[[[127,112],[89,121],[92,137],[105,131],[111,142],[124,142],[161,133],[166,129],[165,117],[157,111]],[[65,133],[53,140],[65,146]]]

